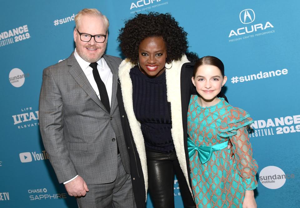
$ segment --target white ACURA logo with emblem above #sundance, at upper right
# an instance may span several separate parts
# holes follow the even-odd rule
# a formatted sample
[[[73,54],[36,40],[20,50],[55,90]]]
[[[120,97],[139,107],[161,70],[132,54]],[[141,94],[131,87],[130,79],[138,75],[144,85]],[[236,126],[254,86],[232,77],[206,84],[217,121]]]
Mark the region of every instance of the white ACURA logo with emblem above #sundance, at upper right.
[[[244,24],[244,27],[240,27],[236,30],[231,30],[228,37],[235,37],[230,39],[229,42],[234,42],[238,40],[245,40],[251,37],[259,37],[262,35],[267,35],[274,33],[275,30],[271,22],[263,22],[258,24],[251,24],[255,20],[255,12],[252,9],[244,9],[240,12],[240,21]],[[272,29],[272,30],[270,30]],[[255,34],[254,34],[255,33]],[[243,37],[240,37],[244,35]]]

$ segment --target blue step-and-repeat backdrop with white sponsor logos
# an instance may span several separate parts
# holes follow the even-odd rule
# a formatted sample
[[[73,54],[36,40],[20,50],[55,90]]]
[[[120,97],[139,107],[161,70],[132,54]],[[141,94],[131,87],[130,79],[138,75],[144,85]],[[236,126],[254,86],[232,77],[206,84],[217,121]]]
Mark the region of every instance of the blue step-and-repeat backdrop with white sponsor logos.
[[[2,1],[0,207],[76,207],[58,184],[39,133],[42,70],[74,50],[74,15],[97,8],[110,20],[107,54],[135,13],[170,12],[190,51],[225,65],[226,96],[255,120],[258,207],[299,207],[299,1]],[[183,207],[174,181],[176,207]],[[152,207],[148,200],[147,207]]]

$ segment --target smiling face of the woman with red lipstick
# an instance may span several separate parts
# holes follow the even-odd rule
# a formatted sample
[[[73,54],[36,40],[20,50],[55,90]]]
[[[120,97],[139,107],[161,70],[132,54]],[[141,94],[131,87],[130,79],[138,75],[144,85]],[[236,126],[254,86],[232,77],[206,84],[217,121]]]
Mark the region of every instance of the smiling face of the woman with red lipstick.
[[[148,77],[158,77],[165,70],[167,50],[162,37],[147,37],[138,47],[140,70]]]

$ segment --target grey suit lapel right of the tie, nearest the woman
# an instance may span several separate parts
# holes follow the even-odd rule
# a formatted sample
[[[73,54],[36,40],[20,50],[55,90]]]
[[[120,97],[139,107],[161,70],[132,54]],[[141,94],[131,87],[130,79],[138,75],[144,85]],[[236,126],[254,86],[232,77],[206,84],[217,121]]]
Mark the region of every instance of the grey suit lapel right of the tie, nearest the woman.
[[[105,59],[108,67],[110,68],[110,71],[113,74],[113,86],[112,86],[112,100],[110,103],[110,111],[113,112],[112,110],[115,108],[116,105],[116,96],[117,96],[117,89],[118,89],[118,65],[114,63],[111,58],[107,55],[103,55],[103,58]]]

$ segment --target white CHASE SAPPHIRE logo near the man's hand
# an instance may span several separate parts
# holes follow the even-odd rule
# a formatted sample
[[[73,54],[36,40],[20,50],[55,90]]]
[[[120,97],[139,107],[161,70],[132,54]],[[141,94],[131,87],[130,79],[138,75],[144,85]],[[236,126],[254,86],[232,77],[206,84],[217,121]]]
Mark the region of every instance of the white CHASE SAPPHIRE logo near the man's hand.
[[[29,198],[30,200],[49,200],[49,199],[66,199],[67,194],[66,193],[61,193],[61,194],[56,194],[56,193],[48,193],[48,190],[46,188],[41,188],[41,189],[29,189],[28,190]]]

